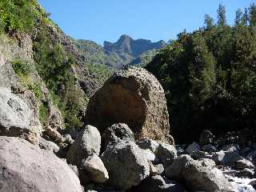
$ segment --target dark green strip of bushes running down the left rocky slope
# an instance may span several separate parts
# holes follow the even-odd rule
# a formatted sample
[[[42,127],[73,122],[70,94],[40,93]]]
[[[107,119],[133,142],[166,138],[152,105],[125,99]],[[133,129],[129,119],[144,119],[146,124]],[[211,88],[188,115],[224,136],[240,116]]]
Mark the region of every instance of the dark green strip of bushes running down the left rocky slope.
[[[38,74],[50,90],[50,98],[58,106],[67,129],[78,129],[82,125],[81,110],[86,95],[76,88],[77,79],[73,66],[74,54],[65,50],[49,29],[47,19],[42,19],[34,38],[34,61]],[[51,28],[55,28],[50,24]]]

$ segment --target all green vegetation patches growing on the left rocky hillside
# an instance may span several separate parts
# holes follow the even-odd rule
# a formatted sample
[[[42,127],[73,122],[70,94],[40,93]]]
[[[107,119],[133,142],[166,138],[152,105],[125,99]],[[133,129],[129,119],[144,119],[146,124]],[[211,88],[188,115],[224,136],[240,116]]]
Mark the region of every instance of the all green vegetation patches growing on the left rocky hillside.
[[[50,94],[39,107],[39,118],[46,126],[46,108],[50,100],[61,110],[66,128],[76,129],[82,125],[81,110],[87,102],[86,95],[78,89],[72,67],[76,58],[66,50],[59,36],[64,36],[37,0],[2,0],[0,2],[0,33],[19,38],[30,34],[33,40],[34,62],[38,74],[45,82]],[[37,83],[30,81],[30,65],[16,59],[12,62],[20,82],[41,99],[42,91]]]

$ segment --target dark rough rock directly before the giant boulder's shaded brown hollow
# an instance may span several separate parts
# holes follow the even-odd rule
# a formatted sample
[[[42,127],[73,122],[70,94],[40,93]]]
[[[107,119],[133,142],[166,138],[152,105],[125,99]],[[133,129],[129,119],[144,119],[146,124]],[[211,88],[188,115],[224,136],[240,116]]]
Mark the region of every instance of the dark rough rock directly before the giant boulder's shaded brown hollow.
[[[109,126],[102,134],[103,150],[120,141],[134,142],[134,133],[125,123]]]

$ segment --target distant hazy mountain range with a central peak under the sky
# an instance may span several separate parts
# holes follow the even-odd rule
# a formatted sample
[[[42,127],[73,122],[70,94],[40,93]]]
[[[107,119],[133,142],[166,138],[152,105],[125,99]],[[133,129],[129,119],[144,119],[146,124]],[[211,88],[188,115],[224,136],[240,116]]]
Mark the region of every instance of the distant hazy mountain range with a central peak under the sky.
[[[157,50],[166,45],[164,41],[151,42],[142,38],[134,40],[126,34],[118,42],[104,42],[103,46],[82,39],[75,40],[75,44],[85,62],[116,69],[126,65],[144,65],[150,62]]]

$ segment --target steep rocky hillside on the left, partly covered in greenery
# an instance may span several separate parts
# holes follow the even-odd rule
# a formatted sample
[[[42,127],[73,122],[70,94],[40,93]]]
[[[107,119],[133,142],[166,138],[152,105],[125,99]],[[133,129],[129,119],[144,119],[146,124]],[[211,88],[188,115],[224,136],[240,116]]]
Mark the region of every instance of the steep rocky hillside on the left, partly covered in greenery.
[[[0,8],[0,85],[31,104],[38,132],[60,139],[56,130],[82,125],[90,96],[111,71],[86,63],[38,1],[2,0]]]

